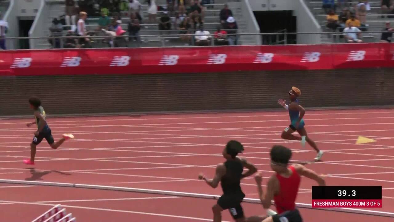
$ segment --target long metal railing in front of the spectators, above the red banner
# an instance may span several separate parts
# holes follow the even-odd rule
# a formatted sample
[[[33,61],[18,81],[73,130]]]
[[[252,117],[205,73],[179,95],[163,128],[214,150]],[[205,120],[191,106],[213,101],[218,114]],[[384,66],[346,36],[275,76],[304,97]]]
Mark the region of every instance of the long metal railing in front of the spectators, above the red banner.
[[[272,44],[294,44],[297,36],[308,36],[310,34],[319,34],[319,35],[331,35],[336,36],[333,38],[331,42],[327,44],[333,43],[346,43],[346,39],[343,38],[344,35],[352,32],[275,32],[275,33],[236,33],[236,34],[221,34],[221,36],[226,36],[223,38],[225,41],[218,41],[214,36],[214,34],[204,35],[204,34],[159,34],[159,35],[137,35],[137,36],[88,36],[89,41],[85,42],[85,44],[81,45],[79,48],[108,48],[111,47],[108,43],[110,41],[115,42],[115,47],[184,47],[184,46],[214,46],[214,45],[229,45],[229,38],[234,38],[234,45],[242,45],[241,42],[237,42],[240,39],[240,36],[259,36],[260,38],[267,38],[270,36],[275,36],[276,39],[284,38],[282,41],[271,42],[263,45],[272,45]],[[359,33],[359,32],[354,32]],[[361,33],[363,35],[365,33]],[[380,40],[381,31],[377,32],[368,32],[366,33],[366,37],[363,38],[361,36],[361,40],[366,39],[368,41],[365,42],[377,42]],[[375,38],[372,38],[371,35],[374,34]],[[198,40],[196,36],[208,36],[206,40]],[[137,37],[134,42],[132,38]],[[149,38],[156,37],[156,40],[149,40]],[[186,38],[187,37],[187,38]],[[342,37],[342,38],[341,38]],[[378,38],[379,37],[379,38]],[[58,43],[60,48],[66,47],[66,42],[72,40],[75,42],[74,47],[78,47],[80,44],[77,43],[77,40],[80,38],[86,38],[83,36],[50,36],[50,37],[24,37],[24,38],[4,38],[6,41],[15,41],[22,39],[29,39],[30,41],[35,40],[52,40],[52,42]],[[340,40],[342,39],[342,40]],[[224,42],[224,43],[223,43]]]

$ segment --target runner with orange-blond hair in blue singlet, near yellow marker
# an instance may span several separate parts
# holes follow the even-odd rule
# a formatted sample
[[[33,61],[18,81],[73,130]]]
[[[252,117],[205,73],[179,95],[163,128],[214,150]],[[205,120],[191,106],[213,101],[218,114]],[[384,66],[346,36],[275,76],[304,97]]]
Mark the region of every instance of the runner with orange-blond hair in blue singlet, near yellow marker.
[[[315,160],[320,160],[323,156],[323,151],[320,151],[316,143],[307,135],[307,130],[305,130],[304,127],[305,122],[303,120],[305,109],[298,104],[298,96],[301,96],[301,90],[299,90],[297,87],[292,87],[292,89],[289,91],[289,105],[286,105],[286,100],[278,100],[278,103],[289,111],[291,122],[290,126],[283,130],[281,137],[282,139],[288,140],[300,140],[303,146],[305,146],[305,142],[308,142],[308,144],[317,152]],[[293,135],[295,131],[297,131],[301,137]]]

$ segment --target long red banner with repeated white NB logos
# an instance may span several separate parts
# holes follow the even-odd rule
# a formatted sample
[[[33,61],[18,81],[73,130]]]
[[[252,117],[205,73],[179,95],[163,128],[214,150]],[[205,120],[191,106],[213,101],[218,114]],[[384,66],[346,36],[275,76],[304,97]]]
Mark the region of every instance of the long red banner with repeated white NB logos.
[[[198,73],[394,67],[394,45],[2,51],[0,75]]]

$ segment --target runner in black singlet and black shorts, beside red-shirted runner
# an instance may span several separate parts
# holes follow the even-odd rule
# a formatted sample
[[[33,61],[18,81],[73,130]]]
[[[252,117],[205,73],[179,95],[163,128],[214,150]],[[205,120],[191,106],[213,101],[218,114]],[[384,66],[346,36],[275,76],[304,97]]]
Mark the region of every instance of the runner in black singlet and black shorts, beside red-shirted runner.
[[[207,179],[202,173],[199,175],[200,180],[204,180],[212,188],[216,188],[221,183],[223,195],[217,200],[216,205],[212,207],[214,213],[214,222],[221,222],[221,212],[229,209],[231,216],[236,222],[244,222],[245,216],[241,202],[245,198],[242,192],[240,182],[244,177],[249,177],[257,172],[253,164],[248,163],[245,159],[236,157],[242,153],[243,145],[235,140],[227,143],[223,150],[223,157],[226,162],[216,166],[214,179]],[[242,173],[243,167],[247,168],[246,173]]]

